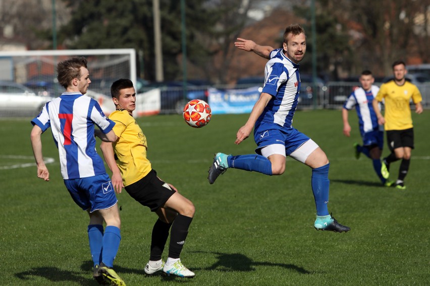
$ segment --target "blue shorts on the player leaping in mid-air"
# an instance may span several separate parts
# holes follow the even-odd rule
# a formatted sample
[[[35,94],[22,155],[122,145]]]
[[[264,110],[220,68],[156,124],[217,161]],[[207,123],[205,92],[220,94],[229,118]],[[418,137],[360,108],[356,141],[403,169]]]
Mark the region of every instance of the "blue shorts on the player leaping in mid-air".
[[[277,125],[277,124],[275,124]],[[261,124],[254,130],[254,140],[257,144],[255,152],[261,155],[260,149],[273,144],[283,144],[285,154],[289,156],[310,138],[296,128],[284,128],[274,124]]]

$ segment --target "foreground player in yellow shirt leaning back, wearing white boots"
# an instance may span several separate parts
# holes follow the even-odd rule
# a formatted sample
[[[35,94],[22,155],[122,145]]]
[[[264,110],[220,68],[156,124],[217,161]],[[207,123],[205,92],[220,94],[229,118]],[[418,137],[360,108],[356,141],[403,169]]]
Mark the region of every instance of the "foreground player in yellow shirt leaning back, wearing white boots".
[[[112,171],[112,184],[117,193],[124,187],[131,197],[158,216],[152,229],[149,262],[144,271],[152,274],[163,270],[168,275],[193,277],[194,273],[181,263],[179,256],[194,216],[194,205],[173,185],[159,179],[151,168],[146,158],[146,136],[132,116],[136,108],[133,83],[120,79],[112,84],[111,94],[116,111],[109,118],[116,123],[113,130],[117,139],[114,143],[102,143],[100,148]],[[164,262],[162,254],[169,230],[169,256]]]

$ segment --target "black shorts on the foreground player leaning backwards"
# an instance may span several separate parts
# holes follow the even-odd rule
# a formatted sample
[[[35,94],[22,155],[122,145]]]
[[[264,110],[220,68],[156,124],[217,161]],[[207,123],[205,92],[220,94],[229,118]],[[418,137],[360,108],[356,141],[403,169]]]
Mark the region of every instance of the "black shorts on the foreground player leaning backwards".
[[[151,211],[163,206],[175,193],[167,183],[158,179],[155,170],[151,170],[145,177],[125,189],[132,198],[149,207]]]

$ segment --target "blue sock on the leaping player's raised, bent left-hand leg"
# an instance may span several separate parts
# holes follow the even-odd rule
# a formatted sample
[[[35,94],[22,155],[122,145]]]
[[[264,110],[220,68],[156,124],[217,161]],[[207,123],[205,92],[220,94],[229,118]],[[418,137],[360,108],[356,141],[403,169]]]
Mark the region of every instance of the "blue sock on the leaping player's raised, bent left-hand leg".
[[[272,162],[266,157],[256,154],[227,157],[229,168],[255,171],[272,176]]]

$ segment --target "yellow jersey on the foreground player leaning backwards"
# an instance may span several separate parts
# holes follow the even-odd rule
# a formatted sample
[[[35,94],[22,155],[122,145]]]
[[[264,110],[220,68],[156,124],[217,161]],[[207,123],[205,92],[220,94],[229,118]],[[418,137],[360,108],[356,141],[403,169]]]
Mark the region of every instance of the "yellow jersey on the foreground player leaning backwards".
[[[113,130],[119,139],[113,143],[114,152],[124,186],[128,186],[151,171],[151,163],[146,158],[146,136],[127,110],[116,110],[109,119],[115,122]]]

